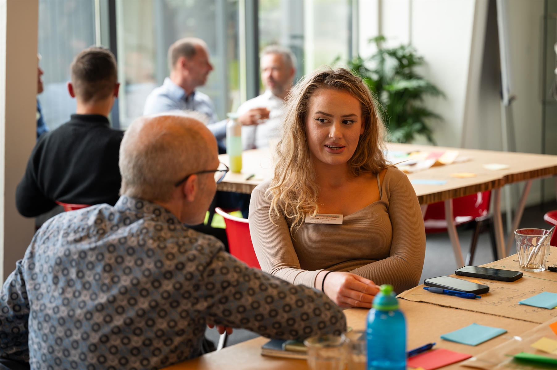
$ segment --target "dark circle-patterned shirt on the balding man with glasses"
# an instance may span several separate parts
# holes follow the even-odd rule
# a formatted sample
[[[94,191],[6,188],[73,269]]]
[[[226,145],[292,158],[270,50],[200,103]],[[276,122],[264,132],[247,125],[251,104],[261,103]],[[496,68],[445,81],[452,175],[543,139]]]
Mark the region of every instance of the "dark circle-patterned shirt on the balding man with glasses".
[[[273,339],[346,329],[323,293],[248,268],[124,195],[37,231],[0,295],[0,356],[32,369],[158,369],[198,356],[207,323]]]

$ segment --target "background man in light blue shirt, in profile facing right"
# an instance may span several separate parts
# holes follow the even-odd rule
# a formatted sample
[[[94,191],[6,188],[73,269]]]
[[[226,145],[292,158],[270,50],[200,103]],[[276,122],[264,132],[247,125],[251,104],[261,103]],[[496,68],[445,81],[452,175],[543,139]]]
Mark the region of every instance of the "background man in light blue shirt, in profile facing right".
[[[168,49],[170,77],[162,86],[153,90],[143,108],[144,115],[169,111],[196,111],[208,117],[207,128],[216,137],[219,154],[226,153],[226,122],[218,120],[211,98],[197,91],[205,85],[213,66],[209,61],[209,48],[201,38],[185,37],[170,45]],[[246,125],[253,124],[248,122]]]

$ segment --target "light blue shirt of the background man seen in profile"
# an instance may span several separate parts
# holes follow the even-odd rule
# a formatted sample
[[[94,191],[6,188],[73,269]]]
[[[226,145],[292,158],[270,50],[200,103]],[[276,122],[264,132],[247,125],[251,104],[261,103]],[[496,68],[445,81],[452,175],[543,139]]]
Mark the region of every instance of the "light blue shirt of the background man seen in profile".
[[[151,115],[175,110],[203,113],[208,118],[207,128],[213,132],[217,140],[226,137],[227,120],[217,122],[217,111],[211,98],[201,91],[193,91],[190,95],[185,95],[184,89],[167,77],[163,85],[155,88],[145,100],[143,114]]]

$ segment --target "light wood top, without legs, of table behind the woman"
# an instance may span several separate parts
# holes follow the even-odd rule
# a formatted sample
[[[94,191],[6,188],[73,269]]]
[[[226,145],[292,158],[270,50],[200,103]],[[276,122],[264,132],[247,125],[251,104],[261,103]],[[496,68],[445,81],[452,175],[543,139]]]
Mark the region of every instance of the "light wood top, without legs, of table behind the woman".
[[[415,174],[409,174],[408,178],[411,181],[414,179],[447,180],[444,185],[413,185],[420,204],[460,198],[461,196],[475,194],[478,191],[501,188],[501,186],[512,182],[557,174],[557,156],[555,155],[395,143],[389,143],[388,149],[404,152],[458,150],[460,156],[470,158],[467,162],[431,167]],[[220,155],[219,159],[228,164],[226,154]],[[241,173],[229,172],[224,177],[224,181],[218,185],[218,190],[251,194],[251,191],[262,181],[272,178],[273,160],[270,149],[246,150],[243,152],[242,160]],[[484,164],[491,163],[505,164],[510,167],[498,171],[491,171],[482,167]],[[451,174],[456,172],[474,172],[477,176],[467,179],[451,177]],[[255,175],[255,179],[246,180],[252,174]]]

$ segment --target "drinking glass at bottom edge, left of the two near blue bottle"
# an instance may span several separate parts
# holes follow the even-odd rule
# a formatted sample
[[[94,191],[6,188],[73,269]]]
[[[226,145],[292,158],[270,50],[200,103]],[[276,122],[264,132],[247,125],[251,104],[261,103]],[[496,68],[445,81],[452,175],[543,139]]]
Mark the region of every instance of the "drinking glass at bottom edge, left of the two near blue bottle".
[[[307,347],[307,365],[312,370],[344,370],[346,365],[345,337],[326,334],[309,337],[304,341]]]

